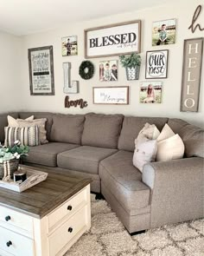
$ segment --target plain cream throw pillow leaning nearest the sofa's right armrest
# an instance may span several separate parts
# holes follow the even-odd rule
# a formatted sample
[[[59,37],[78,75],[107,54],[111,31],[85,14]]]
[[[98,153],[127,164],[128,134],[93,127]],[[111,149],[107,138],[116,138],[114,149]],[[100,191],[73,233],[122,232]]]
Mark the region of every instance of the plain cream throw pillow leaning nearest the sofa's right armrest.
[[[157,143],[156,161],[170,161],[180,159],[184,154],[184,143],[179,135],[173,135],[170,138]]]

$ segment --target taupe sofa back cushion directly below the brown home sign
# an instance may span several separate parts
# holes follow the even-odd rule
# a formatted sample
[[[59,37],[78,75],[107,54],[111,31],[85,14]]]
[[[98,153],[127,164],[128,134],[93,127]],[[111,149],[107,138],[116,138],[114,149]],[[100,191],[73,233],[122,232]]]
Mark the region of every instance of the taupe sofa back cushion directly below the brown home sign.
[[[84,121],[84,115],[54,115],[50,140],[80,144]]]

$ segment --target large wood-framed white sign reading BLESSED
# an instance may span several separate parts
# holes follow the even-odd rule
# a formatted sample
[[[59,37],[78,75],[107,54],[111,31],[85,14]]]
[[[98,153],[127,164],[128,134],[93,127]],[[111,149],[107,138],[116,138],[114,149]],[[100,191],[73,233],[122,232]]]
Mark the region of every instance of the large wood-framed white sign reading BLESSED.
[[[141,21],[84,30],[85,58],[128,55],[141,51]]]

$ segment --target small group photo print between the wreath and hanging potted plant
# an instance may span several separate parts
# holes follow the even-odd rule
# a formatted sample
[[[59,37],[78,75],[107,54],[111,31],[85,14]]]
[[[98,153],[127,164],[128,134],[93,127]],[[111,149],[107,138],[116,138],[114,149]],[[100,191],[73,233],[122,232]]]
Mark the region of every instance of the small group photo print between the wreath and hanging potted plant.
[[[99,62],[99,81],[118,81],[118,61]]]

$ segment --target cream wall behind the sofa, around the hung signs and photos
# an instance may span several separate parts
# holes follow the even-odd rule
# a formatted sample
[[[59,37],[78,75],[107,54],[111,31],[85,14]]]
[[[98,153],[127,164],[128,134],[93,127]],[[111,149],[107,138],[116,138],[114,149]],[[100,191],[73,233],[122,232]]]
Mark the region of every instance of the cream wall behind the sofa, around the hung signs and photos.
[[[195,8],[201,4],[197,1],[178,1],[177,6],[174,4],[163,5],[160,7],[132,11],[117,16],[106,16],[102,19],[87,21],[84,23],[67,23],[59,30],[47,31],[40,34],[24,36],[22,42],[22,93],[25,108],[37,111],[53,111],[61,113],[86,113],[90,111],[98,113],[123,113],[124,115],[146,115],[146,116],[169,116],[179,117],[190,121],[194,124],[204,127],[204,86],[203,78],[201,79],[201,95],[199,113],[182,113],[180,112],[180,95],[182,83],[182,50],[183,40],[193,37],[204,36],[204,32],[196,30],[194,34],[188,30]],[[204,9],[204,6],[203,6]],[[176,18],[176,43],[166,46],[151,46],[151,28],[152,22]],[[201,12],[199,19],[204,27],[204,10]],[[143,64],[141,67],[140,80],[145,80],[145,53],[151,49],[169,49],[169,75],[163,79],[163,103],[162,104],[140,104],[139,103],[139,81],[128,82],[125,71],[120,66],[118,70],[118,82],[99,82],[99,61],[103,59],[118,59],[118,57],[92,59],[96,68],[96,74],[91,80],[85,81],[78,74],[80,62],[84,60],[84,29],[97,27],[112,23],[121,23],[135,19],[142,20],[142,53]],[[61,37],[78,36],[79,56],[61,56]],[[28,49],[46,45],[54,46],[54,96],[30,96],[29,95],[29,66],[28,66]],[[204,60],[203,60],[204,61]],[[88,102],[88,108],[64,108],[63,94],[63,70],[62,62],[72,62],[72,80],[80,81],[80,94],[70,95],[74,99],[83,98]],[[204,68],[204,65],[203,65]],[[202,73],[204,69],[202,69]],[[129,85],[130,86],[130,105],[127,106],[108,106],[92,104],[92,87],[93,86],[112,86],[112,85]]]

